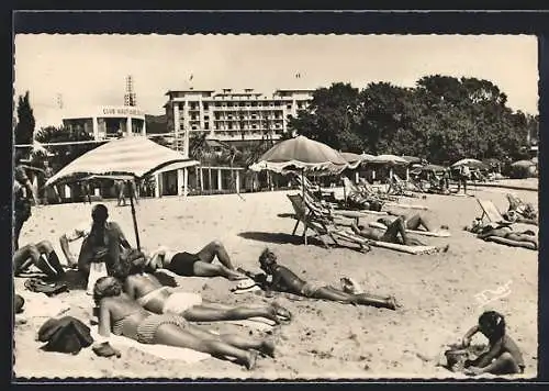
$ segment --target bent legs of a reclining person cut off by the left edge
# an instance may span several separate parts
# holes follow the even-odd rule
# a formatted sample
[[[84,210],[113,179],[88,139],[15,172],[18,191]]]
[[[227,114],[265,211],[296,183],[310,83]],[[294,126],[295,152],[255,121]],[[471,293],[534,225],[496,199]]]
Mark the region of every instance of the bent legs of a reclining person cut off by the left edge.
[[[27,244],[13,254],[13,272],[15,276],[26,271],[31,265],[36,266],[42,272],[52,278],[59,278],[65,275],[59,257],[55,253],[52,243],[47,241]]]

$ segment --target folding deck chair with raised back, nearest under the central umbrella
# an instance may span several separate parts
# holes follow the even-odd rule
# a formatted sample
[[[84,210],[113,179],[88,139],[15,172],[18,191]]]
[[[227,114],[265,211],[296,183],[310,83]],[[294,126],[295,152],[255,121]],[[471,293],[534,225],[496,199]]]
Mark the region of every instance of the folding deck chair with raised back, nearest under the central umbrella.
[[[328,236],[338,246],[341,246],[340,241],[345,241],[359,245],[361,252],[369,252],[371,249],[369,241],[356,235],[347,227],[338,226],[324,212],[318,214],[316,205],[310,205],[301,194],[287,194],[287,197],[295,212],[296,222],[292,235],[295,235],[299,224],[302,223],[304,225],[302,236],[305,245],[307,244],[307,231],[311,230],[318,236],[325,248],[329,247],[328,242],[325,239],[325,236]]]

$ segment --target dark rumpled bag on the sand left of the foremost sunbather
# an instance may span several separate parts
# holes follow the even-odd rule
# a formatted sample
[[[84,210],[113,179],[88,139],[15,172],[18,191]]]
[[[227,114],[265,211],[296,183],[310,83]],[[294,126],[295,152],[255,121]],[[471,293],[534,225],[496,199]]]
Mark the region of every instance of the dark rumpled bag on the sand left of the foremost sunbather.
[[[72,316],[49,319],[38,329],[38,340],[46,343],[42,349],[77,355],[93,344],[90,328]]]

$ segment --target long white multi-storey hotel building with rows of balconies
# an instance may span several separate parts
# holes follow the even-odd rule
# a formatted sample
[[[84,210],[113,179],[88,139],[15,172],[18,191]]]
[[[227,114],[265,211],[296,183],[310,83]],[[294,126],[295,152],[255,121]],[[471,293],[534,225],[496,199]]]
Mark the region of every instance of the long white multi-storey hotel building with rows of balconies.
[[[271,96],[254,89],[233,91],[179,90],[166,93],[167,127],[175,144],[186,149],[186,136],[206,134],[223,142],[280,138],[287,131],[288,115],[296,115],[312,100],[313,90],[276,90]],[[187,132],[189,131],[189,132]],[[183,153],[184,154],[184,153]]]

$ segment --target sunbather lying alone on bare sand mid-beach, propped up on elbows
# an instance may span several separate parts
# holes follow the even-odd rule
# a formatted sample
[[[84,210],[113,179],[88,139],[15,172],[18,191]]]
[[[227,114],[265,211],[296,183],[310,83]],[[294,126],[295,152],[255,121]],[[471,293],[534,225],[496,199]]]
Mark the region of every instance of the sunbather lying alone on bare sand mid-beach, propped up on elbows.
[[[278,265],[277,256],[268,248],[259,256],[259,265],[267,276],[258,275],[255,276],[254,279],[256,281],[262,280],[262,286],[268,293],[271,291],[280,291],[305,298],[337,301],[346,304],[372,305],[390,310],[396,309],[396,301],[393,297],[382,298],[368,293],[347,293],[334,287],[303,281],[287,267]],[[271,282],[267,282],[267,277],[269,276],[272,277]]]

